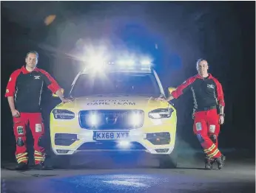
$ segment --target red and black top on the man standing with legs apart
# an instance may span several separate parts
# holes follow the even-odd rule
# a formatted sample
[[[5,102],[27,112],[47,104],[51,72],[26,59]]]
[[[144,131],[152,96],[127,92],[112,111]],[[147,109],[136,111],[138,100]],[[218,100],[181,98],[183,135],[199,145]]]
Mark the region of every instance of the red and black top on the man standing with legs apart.
[[[21,113],[38,113],[41,111],[41,92],[44,83],[54,94],[60,89],[47,71],[38,68],[27,71],[22,66],[10,75],[5,97],[14,97],[16,110]]]

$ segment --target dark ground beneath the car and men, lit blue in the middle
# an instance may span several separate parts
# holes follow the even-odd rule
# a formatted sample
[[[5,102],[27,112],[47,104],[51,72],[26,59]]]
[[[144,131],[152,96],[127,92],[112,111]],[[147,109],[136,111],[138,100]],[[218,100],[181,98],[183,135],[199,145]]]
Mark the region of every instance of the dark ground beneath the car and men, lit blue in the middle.
[[[180,155],[176,169],[158,169],[155,159],[135,163],[111,156],[75,158],[73,166],[47,171],[1,169],[1,192],[255,192],[255,159],[236,155],[227,153],[225,167],[215,164],[210,171],[201,154]]]

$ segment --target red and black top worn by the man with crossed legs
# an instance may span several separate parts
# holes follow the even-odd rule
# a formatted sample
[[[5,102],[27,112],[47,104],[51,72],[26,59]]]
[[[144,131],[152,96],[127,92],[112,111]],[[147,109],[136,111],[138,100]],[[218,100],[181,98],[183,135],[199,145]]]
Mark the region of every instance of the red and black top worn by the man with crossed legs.
[[[172,91],[172,97],[177,99],[184,92],[192,91],[195,110],[209,108],[215,105],[225,106],[222,85],[212,74],[203,78],[199,74],[190,77],[184,83]]]

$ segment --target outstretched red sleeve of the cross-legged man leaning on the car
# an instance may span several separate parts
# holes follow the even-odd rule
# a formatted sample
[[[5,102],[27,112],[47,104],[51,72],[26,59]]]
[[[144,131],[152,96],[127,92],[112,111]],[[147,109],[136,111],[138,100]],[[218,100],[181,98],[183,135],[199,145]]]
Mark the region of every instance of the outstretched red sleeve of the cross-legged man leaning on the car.
[[[188,80],[186,80],[184,83],[179,85],[175,91],[172,91],[170,97],[166,99],[168,102],[172,99],[178,99],[183,93],[189,90],[191,88],[192,83],[194,83],[196,80],[196,77],[190,77]]]

